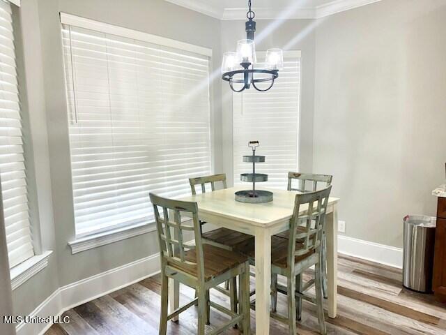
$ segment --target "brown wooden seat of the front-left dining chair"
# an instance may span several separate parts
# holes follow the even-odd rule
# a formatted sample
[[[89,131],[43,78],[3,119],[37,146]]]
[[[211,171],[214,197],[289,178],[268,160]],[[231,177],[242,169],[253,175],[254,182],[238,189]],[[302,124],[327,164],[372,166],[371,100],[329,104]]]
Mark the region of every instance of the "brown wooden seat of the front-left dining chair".
[[[188,262],[197,262],[197,253],[195,248],[186,251],[185,260]],[[226,271],[242,265],[247,262],[248,258],[241,253],[229,251],[218,246],[203,244],[203,260],[204,260],[204,278],[205,281],[224,274]],[[186,263],[175,263],[174,267],[185,271],[191,276],[197,277],[197,266],[187,265]]]

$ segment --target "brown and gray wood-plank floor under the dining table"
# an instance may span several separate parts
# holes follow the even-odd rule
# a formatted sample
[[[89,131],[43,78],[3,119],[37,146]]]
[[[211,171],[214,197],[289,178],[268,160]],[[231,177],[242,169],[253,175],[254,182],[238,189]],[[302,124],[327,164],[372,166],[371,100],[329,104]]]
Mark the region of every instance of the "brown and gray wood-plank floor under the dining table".
[[[436,302],[432,295],[403,289],[401,270],[345,255],[339,255],[338,270],[338,316],[336,319],[326,318],[328,334],[446,335],[446,304]],[[157,334],[160,289],[160,276],[147,278],[67,311],[63,315],[70,316],[70,323],[53,325],[46,334]],[[181,286],[180,304],[190,301],[193,296],[194,290]],[[229,307],[229,299],[219,292],[211,291],[211,299]],[[277,305],[279,313],[286,315],[283,295],[279,294]],[[211,308],[208,329],[224,320],[225,315]],[[254,327],[254,311],[251,323]],[[191,307],[180,314],[178,323],[169,322],[168,334],[196,334],[196,325],[197,308]],[[316,309],[304,301],[298,334],[318,334],[314,329],[318,329]],[[231,329],[223,334],[239,332]],[[288,334],[288,329],[271,320],[271,334]]]

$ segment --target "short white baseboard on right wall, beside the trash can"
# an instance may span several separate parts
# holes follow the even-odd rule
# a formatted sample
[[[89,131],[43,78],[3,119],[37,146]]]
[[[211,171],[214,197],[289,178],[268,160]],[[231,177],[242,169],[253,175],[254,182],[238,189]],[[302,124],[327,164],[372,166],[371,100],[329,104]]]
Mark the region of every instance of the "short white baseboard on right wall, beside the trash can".
[[[385,246],[362,239],[354,239],[339,235],[337,239],[337,250],[339,253],[362,258],[363,260],[371,260],[372,262],[389,265],[391,267],[403,267],[403,249],[394,246]]]

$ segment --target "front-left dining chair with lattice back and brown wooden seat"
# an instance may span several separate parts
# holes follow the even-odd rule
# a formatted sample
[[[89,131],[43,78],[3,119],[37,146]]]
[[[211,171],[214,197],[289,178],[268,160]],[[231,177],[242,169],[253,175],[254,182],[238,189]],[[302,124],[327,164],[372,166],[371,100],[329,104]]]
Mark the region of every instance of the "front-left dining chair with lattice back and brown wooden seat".
[[[161,260],[161,314],[159,334],[167,332],[167,321],[176,317],[187,308],[198,304],[197,334],[205,334],[205,325],[209,324],[210,307],[216,308],[229,315],[230,320],[220,328],[213,329],[209,334],[220,334],[224,329],[240,324],[243,333],[250,332],[249,310],[249,262],[245,255],[219,248],[210,244],[203,244],[201,239],[201,225],[198,218],[197,202],[170,200],[150,194],[160,244]],[[192,217],[185,221],[182,217]],[[172,235],[171,230],[174,230]],[[193,232],[195,245],[185,244],[183,236]],[[238,313],[210,301],[209,290],[215,286],[239,277],[240,308]],[[168,314],[168,285],[169,278],[194,288],[198,297]]]

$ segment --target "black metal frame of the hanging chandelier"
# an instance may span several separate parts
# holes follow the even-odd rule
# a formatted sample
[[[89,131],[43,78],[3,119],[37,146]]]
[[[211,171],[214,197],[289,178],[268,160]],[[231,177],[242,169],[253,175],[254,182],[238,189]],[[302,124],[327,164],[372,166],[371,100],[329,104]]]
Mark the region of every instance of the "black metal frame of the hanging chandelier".
[[[251,0],[248,0],[248,12],[246,13],[248,21],[245,22],[246,38],[248,40],[254,40],[254,32],[256,31],[256,22],[254,21],[255,16],[255,13],[251,9]],[[231,89],[237,93],[245,91],[245,89],[249,89],[251,84],[252,87],[254,87],[254,89],[256,89],[257,91],[268,91],[272,87],[272,85],[274,85],[275,79],[279,77],[279,70],[254,68],[254,64],[252,64],[251,62],[242,62],[240,63],[240,66],[242,66],[243,69],[228,71],[223,73],[222,75],[222,79],[226,80],[226,82],[229,82],[229,86],[231,87]],[[249,68],[250,66],[252,66],[252,68]],[[254,73],[264,73],[270,75],[270,77],[254,78]],[[234,78],[235,75],[239,74],[243,74],[243,79]],[[259,87],[256,87],[256,83],[258,82],[271,82],[271,84],[266,89],[260,89]],[[235,89],[233,87],[233,84],[243,84],[243,87],[241,89]]]

